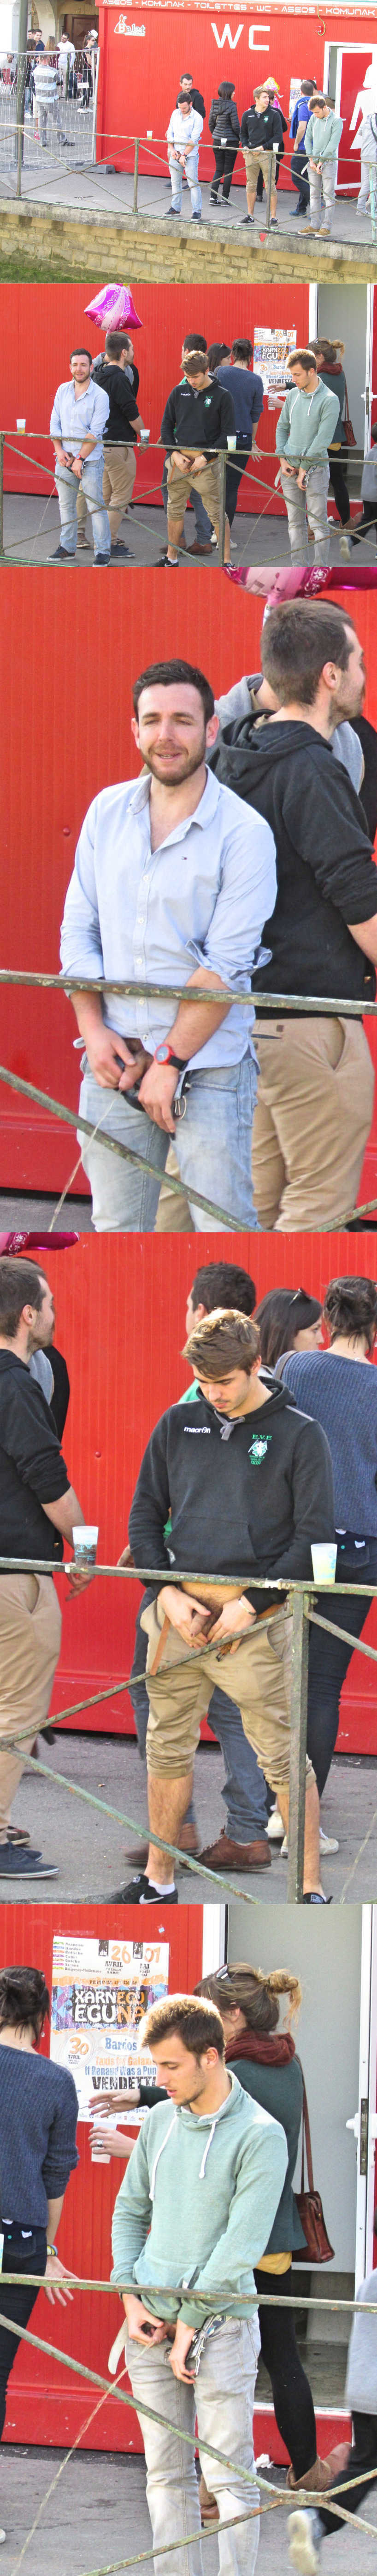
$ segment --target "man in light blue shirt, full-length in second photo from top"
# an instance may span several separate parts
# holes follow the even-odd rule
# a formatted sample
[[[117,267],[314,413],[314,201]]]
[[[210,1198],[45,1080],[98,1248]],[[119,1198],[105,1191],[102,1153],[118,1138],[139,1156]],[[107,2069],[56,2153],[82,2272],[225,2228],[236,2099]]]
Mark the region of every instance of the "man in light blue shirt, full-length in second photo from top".
[[[82,484],[92,518],[95,564],[110,564],[110,518],[103,507],[103,430],[110,402],[95,376],[87,348],[72,348],[69,379],[56,386],[51,407],[51,438],[56,451],[56,497],[62,515],[62,541],[51,564],[64,564],[77,554],[77,492]]]

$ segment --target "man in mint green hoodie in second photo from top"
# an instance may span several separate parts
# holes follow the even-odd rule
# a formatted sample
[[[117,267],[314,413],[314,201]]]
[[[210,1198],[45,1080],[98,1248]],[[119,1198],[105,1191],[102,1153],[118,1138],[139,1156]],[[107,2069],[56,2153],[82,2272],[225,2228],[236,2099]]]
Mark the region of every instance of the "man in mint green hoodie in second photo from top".
[[[315,564],[328,564],[328,446],[339,420],[339,394],[328,394],[328,386],[321,384],[313,348],[287,350],[287,368],[292,384],[287,384],[277,420],[277,482],[287,510],[290,559],[308,564],[310,520]]]

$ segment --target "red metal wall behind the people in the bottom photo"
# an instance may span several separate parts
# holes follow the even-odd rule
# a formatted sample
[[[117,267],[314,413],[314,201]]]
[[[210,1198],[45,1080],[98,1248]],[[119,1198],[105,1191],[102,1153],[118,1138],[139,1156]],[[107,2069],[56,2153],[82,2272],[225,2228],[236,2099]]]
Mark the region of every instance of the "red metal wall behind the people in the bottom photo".
[[[85,1914],[85,1919],[82,1919]],[[164,1917],[164,1937],[169,1940],[169,1989],[185,1994],[195,1986],[203,1973],[203,1906],[177,1906],[177,1911]],[[123,1906],[64,1906],[51,1901],[49,1906],[0,1906],[0,1965],[8,1960],[44,1968],[46,1984],[51,1986],[51,1942],[54,1932],[72,1932],[85,1937],[133,1937],[133,1917]],[[144,1940],[156,1937],[156,1914],[146,1909]],[[49,2045],[46,2045],[49,2056]],[[90,2130],[80,2123],[80,2166],[69,2179],[64,2215],[59,2226],[59,2254],[77,2277],[108,2280],[110,2272],[110,2213],[115,2192],[121,2184],[123,2166],[92,2164],[90,2156]],[[108,2372],[108,2352],[121,2324],[121,2308],[113,2298],[100,2293],[77,2293],[69,2308],[49,2308],[41,2298],[36,2300],[31,2316],[31,2334],[46,2336],[46,2342],[59,2344],[72,2360],[90,2370]],[[121,2409],[113,2398],[105,2398],[100,2414],[87,2429],[87,2414],[95,2409],[95,2388],[62,2367],[62,2362],[49,2362],[44,2352],[31,2352],[23,2347],[15,2360],[8,2388],[8,2442],[54,2442],[64,2450],[74,2442],[77,2432],[85,2434],[85,2450],[141,2450],[141,2432],[136,2414]]]

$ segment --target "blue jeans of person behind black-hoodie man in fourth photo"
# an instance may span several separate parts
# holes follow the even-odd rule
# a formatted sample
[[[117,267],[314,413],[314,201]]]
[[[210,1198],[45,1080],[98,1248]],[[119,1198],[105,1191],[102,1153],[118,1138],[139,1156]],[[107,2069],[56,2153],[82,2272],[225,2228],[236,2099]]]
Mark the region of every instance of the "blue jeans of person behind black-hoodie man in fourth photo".
[[[136,1618],[136,1651],[133,1651],[128,1695],[136,1718],[138,1754],[141,1762],[146,1762],[149,1692],[144,1680],[141,1682],[133,1680],[133,1674],[138,1672],[144,1674],[149,1651],[149,1638],[146,1631],[141,1628],[141,1610]],[[226,1834],[231,1834],[231,1842],[262,1842],[262,1837],[267,1839],[264,1772],[256,1765],[254,1747],[246,1741],[236,1700],[226,1700],[223,1690],[213,1690],[208,1708],[208,1726],[210,1736],[215,1736],[221,1744],[226,1765],[226,1783],[221,1790],[226,1806]],[[192,1798],[187,1806],[187,1821],[195,1824]]]

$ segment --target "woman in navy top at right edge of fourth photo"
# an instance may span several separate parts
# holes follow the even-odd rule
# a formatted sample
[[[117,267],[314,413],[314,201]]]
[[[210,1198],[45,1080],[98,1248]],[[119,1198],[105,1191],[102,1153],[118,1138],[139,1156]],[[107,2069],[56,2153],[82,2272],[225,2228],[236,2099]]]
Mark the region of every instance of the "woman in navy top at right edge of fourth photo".
[[[321,1422],[333,1461],[336,1497],[336,1584],[377,1584],[377,1370],[369,1365],[377,1340],[377,1283],[369,1278],[331,1280],[323,1303],[328,1350],[292,1350],[282,1363],[282,1383],[295,1404]],[[369,1602],[346,1592],[321,1592],[326,1620],[362,1636]],[[308,1659],[308,1754],[323,1795],[336,1734],[339,1700],[354,1649],[346,1638],[310,1628]]]

